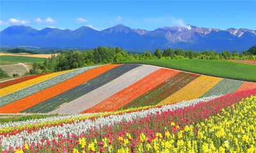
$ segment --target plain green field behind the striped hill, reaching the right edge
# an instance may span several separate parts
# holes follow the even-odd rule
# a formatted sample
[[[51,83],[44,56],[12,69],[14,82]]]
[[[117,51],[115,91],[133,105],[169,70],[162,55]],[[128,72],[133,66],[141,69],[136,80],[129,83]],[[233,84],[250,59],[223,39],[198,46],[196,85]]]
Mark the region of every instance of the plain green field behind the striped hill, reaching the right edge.
[[[256,66],[232,61],[203,59],[158,59],[145,61],[125,61],[122,63],[150,64],[164,68],[179,69],[182,71],[198,73],[201,75],[256,82]]]

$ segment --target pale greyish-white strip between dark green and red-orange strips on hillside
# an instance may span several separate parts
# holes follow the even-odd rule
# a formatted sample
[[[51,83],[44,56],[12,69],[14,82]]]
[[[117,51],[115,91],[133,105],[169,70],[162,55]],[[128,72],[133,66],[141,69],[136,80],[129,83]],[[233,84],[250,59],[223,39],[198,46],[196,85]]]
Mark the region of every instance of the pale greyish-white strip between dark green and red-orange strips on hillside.
[[[84,110],[88,110],[92,106],[104,101],[104,99],[107,99],[113,94],[116,94],[135,82],[138,82],[157,69],[159,68],[145,65],[134,68],[108,84],[102,85],[94,91],[89,92],[66,105],[60,106],[60,108],[51,113],[80,113]]]

